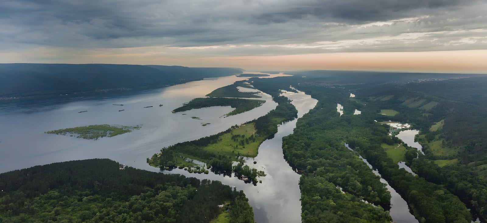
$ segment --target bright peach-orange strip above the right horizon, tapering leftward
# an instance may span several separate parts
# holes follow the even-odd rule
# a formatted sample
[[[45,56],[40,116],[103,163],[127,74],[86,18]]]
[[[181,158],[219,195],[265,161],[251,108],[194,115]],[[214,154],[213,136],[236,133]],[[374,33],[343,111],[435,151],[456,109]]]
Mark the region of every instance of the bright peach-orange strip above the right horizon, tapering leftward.
[[[439,52],[332,53],[286,56],[201,58],[208,63],[253,70],[363,70],[403,72],[486,73],[487,50]],[[203,64],[202,64],[203,65]]]

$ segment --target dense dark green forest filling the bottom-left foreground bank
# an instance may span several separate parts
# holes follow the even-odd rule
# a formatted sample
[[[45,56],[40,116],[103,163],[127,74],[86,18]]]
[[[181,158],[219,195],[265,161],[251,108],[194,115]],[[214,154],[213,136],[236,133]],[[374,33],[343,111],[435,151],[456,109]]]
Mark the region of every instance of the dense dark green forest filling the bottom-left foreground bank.
[[[242,190],[108,159],[1,173],[0,188],[0,222],[254,222]]]

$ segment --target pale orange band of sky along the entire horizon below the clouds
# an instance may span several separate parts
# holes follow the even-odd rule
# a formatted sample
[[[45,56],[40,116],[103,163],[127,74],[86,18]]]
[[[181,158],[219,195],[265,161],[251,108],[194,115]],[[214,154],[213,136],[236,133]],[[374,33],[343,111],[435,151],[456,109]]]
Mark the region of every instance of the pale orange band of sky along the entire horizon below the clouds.
[[[56,54],[57,53],[57,54]],[[359,52],[284,56],[172,56],[156,53],[96,51],[52,52],[56,58],[25,60],[19,54],[0,54],[4,63],[110,63],[178,65],[187,67],[235,67],[247,71],[355,70],[487,74],[487,50],[431,52]],[[44,55],[49,55],[45,53]],[[76,56],[73,56],[76,55]],[[61,57],[64,56],[64,57]]]

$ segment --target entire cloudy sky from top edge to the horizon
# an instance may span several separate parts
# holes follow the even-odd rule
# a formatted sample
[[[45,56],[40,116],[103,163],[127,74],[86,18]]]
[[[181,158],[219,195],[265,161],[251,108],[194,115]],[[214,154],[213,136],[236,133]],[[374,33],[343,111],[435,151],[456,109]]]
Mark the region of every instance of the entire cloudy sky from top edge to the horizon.
[[[0,0],[0,63],[487,73],[487,0]]]

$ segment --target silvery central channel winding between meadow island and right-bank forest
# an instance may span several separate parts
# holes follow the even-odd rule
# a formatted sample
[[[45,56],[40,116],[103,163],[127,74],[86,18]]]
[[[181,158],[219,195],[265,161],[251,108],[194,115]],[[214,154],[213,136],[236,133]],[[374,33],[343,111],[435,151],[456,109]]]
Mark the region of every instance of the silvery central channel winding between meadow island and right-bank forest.
[[[282,95],[292,100],[298,110],[298,117],[302,117],[318,102],[303,92],[284,92]],[[282,153],[282,137],[293,133],[297,119],[285,122],[278,127],[274,138],[265,140],[259,147],[259,154],[255,158],[248,158],[245,164],[250,168],[264,170],[265,177],[259,177],[262,183],[246,184],[233,175],[216,175],[188,173],[181,169],[170,172],[180,173],[199,179],[218,180],[229,186],[236,186],[237,190],[244,190],[254,209],[255,221],[258,223],[299,223],[301,222],[301,192],[299,188],[300,175],[285,161]],[[253,162],[257,162],[253,164]]]

